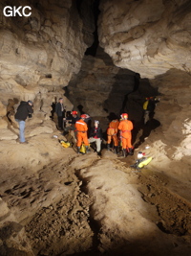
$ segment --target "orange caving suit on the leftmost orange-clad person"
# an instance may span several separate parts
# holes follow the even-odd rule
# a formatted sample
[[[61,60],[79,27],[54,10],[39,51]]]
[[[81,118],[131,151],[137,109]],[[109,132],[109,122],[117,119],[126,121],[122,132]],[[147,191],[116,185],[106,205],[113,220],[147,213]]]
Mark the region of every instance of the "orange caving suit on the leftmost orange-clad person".
[[[82,142],[84,142],[85,146],[89,146],[87,130],[87,124],[82,120],[79,119],[75,122],[75,128],[77,131],[77,147],[80,147]]]

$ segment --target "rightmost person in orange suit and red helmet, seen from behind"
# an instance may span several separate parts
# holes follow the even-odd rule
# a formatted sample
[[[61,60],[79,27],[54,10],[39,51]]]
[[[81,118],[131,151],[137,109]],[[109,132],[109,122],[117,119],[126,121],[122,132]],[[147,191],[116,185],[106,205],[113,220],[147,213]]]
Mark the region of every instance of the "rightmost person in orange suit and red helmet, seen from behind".
[[[133,129],[133,123],[130,120],[128,120],[127,113],[121,114],[121,117],[122,121],[120,121],[118,129],[120,129],[121,132],[123,156],[126,157],[127,151],[129,152],[130,155],[133,154],[133,146],[131,143],[131,130]]]

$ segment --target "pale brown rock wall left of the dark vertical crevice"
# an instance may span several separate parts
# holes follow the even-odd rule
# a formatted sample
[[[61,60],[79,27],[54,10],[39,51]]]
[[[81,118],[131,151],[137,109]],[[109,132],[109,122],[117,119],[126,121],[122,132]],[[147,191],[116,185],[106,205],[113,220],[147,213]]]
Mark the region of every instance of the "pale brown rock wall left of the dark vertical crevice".
[[[1,1],[0,3],[0,117],[7,114],[10,101],[34,101],[34,116],[49,119],[51,105],[64,98],[63,88],[78,73],[87,47],[93,43],[95,24],[87,18],[93,1],[79,12],[79,1]],[[5,6],[30,6],[32,15],[3,14]],[[85,19],[85,12],[89,15]]]

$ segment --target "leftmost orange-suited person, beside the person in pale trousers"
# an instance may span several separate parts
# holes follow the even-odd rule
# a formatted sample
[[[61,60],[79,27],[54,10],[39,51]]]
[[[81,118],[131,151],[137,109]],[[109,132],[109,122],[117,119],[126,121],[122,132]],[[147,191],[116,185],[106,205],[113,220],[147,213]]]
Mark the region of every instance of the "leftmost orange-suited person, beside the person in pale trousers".
[[[89,152],[89,142],[88,142],[88,126],[85,123],[87,115],[82,114],[81,119],[75,122],[75,128],[77,131],[77,153],[80,153],[80,147],[82,145],[82,142],[85,144],[86,152]]]

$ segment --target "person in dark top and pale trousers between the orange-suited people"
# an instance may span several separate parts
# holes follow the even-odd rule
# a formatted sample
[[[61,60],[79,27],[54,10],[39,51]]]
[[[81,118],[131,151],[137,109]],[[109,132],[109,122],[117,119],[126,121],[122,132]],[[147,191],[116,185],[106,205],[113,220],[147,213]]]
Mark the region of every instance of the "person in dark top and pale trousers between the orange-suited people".
[[[99,128],[99,122],[95,120],[94,128],[91,128],[89,142],[96,142],[96,152],[100,154],[101,151],[101,140],[102,140],[102,129]]]

